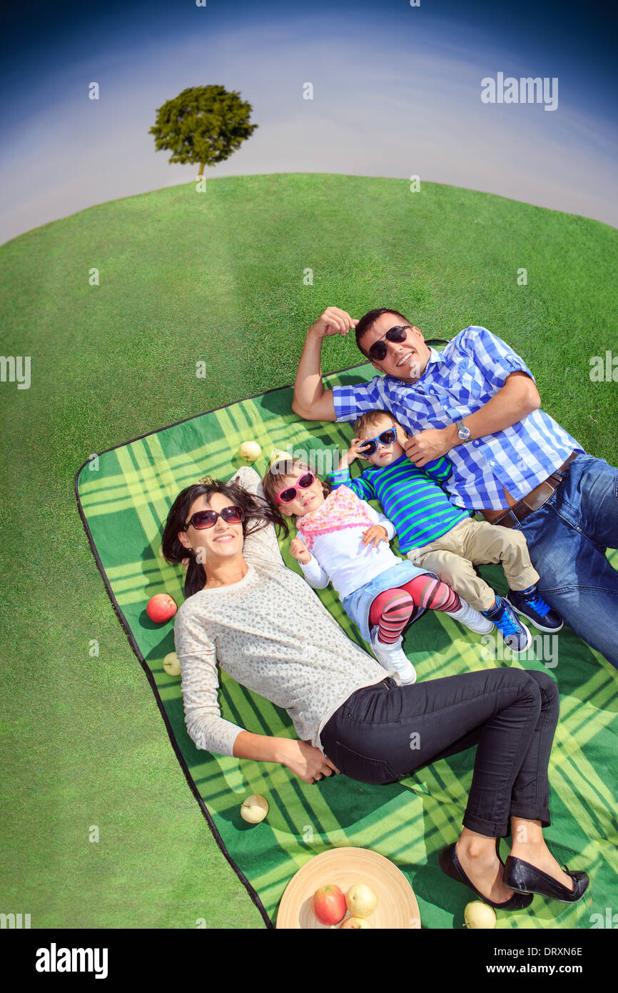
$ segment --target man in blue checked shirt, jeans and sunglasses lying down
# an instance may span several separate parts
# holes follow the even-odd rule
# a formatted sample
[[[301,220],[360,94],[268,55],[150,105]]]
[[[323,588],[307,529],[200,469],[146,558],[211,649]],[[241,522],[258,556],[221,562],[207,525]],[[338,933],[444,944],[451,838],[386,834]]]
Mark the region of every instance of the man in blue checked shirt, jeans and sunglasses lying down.
[[[325,390],[322,341],[353,328],[383,374]],[[448,454],[444,487],[453,503],[521,530],[543,599],[618,668],[618,573],[605,558],[618,545],[618,472],[586,455],[540,407],[524,360],[487,329],[465,328],[440,354],[387,308],[355,320],[328,307],[307,333],[293,401],[316,421],[389,410],[412,434],[405,450],[416,466]]]

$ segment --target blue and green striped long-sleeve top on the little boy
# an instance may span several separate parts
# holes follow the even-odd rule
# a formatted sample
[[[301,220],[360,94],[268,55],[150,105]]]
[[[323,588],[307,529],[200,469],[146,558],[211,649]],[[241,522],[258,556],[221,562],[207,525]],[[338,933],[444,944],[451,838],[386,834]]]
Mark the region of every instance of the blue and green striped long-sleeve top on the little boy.
[[[337,470],[329,479],[333,490],[346,486],[361,499],[379,500],[385,516],[395,524],[405,555],[411,548],[429,545],[470,516],[471,511],[454,506],[439,487],[451,469],[444,456],[417,469],[402,455],[390,466],[370,466],[354,480],[349,469]]]

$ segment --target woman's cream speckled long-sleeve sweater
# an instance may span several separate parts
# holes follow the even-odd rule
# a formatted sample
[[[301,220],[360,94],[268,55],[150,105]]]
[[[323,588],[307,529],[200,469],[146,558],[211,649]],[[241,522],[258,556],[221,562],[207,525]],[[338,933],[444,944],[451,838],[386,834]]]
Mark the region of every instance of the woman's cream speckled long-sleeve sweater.
[[[255,493],[257,473],[234,477]],[[348,638],[308,583],[289,569],[272,525],[245,538],[247,574],[231,586],[200,590],[176,616],[186,728],[197,748],[233,755],[243,730],[221,717],[218,668],[287,710],[296,732],[321,750],[319,732],[355,690],[385,669]]]

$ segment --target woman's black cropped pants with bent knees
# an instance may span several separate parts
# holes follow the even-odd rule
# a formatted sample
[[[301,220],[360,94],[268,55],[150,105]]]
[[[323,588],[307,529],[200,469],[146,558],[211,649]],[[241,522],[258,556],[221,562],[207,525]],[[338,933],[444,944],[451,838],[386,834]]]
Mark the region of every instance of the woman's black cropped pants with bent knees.
[[[559,698],[546,672],[484,669],[398,686],[366,686],[322,728],[324,754],[345,776],[393,782],[476,745],[463,817],[472,831],[509,834],[509,817],[550,824],[548,765]]]

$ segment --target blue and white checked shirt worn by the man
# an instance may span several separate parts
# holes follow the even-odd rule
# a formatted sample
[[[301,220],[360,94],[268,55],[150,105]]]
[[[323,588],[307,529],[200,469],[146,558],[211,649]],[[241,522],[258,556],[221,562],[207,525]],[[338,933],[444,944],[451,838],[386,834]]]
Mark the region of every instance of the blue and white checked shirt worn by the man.
[[[337,421],[355,421],[366,410],[390,410],[411,434],[443,428],[473,414],[504,386],[511,372],[527,372],[525,361],[486,328],[460,332],[431,357],[421,378],[405,383],[377,375],[368,383],[335,386]],[[504,489],[521,499],[547,480],[581,446],[543,410],[504,431],[450,449],[452,475],[442,484],[453,503],[467,509],[508,506]]]

